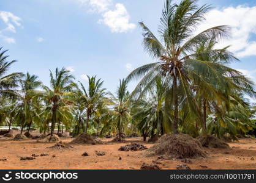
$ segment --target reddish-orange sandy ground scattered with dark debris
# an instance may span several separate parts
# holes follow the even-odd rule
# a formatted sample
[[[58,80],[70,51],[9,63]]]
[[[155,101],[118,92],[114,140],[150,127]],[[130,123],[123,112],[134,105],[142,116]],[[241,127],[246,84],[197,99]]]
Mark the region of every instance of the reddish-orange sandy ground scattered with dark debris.
[[[72,138],[62,138],[68,143]],[[104,138],[105,142],[111,138]],[[127,138],[129,142],[139,142],[146,147],[151,143],[142,141],[142,138]],[[143,162],[152,163],[156,157],[146,157],[145,151],[118,151],[126,143],[108,142],[105,145],[72,145],[72,149],[50,149],[55,143],[39,143],[36,140],[13,141],[10,138],[0,137],[1,169],[140,169]],[[229,143],[230,149],[205,148],[208,157],[192,159],[191,169],[256,169],[256,139],[240,139],[239,142]],[[95,151],[106,152],[105,156],[97,156]],[[88,157],[81,156],[88,152]],[[34,160],[20,160],[20,157],[32,154],[49,154],[36,157]],[[53,157],[55,155],[55,157]],[[119,160],[121,157],[121,160]],[[255,160],[252,160],[254,157]],[[176,169],[181,160],[159,160],[162,169]],[[203,166],[203,167],[202,167]]]

